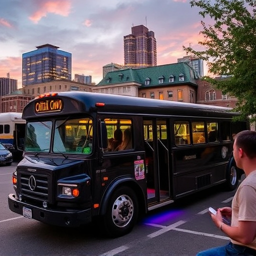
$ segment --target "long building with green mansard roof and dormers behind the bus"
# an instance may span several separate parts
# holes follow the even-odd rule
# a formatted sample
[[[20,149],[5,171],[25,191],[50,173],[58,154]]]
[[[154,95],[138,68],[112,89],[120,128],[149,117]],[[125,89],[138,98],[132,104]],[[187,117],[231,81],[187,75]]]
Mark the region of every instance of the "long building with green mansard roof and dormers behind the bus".
[[[108,72],[93,92],[196,102],[197,72],[187,63]]]

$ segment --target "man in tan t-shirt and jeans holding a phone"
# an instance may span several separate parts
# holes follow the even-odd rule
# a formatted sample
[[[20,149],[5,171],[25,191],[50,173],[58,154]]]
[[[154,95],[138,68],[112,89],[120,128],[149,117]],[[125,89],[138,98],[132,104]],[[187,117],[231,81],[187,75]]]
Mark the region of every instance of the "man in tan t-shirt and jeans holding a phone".
[[[215,215],[211,214],[230,242],[200,251],[197,256],[256,255],[256,131],[244,130],[235,135],[233,156],[246,177],[235,192],[232,207],[218,208]],[[223,216],[231,217],[230,226],[223,222]]]

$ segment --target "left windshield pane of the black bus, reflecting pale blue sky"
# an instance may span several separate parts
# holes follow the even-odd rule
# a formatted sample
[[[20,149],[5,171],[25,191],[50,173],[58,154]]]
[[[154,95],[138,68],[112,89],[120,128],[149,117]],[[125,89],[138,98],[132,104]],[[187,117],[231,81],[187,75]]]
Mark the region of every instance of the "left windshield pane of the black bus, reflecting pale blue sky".
[[[51,121],[28,122],[26,125],[25,151],[48,152],[51,126]]]

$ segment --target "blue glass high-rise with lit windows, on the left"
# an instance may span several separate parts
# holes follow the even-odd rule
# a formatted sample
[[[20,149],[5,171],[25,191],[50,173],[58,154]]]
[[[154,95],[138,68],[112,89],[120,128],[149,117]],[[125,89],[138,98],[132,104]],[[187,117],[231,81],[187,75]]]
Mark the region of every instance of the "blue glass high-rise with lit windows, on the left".
[[[71,53],[43,44],[22,54],[22,86],[52,80],[71,80]]]

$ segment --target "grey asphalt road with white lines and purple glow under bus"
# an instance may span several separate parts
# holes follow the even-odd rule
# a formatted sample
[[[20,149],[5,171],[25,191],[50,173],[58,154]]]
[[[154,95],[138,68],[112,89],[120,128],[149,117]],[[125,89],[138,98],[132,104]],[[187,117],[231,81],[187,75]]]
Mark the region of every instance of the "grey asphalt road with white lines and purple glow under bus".
[[[190,256],[228,241],[212,223],[207,208],[230,206],[234,191],[218,186],[193,194],[148,213],[129,234],[110,239],[92,225],[61,228],[11,212],[7,194],[13,192],[15,165],[0,166],[0,256]]]

